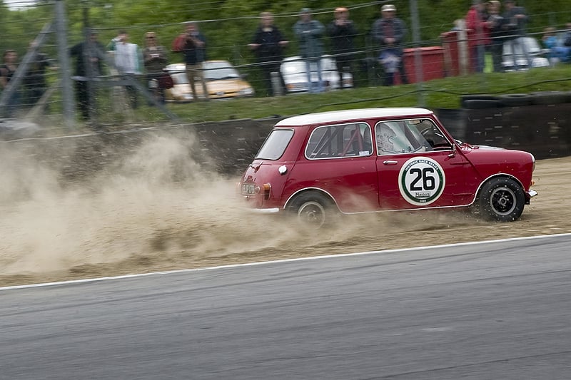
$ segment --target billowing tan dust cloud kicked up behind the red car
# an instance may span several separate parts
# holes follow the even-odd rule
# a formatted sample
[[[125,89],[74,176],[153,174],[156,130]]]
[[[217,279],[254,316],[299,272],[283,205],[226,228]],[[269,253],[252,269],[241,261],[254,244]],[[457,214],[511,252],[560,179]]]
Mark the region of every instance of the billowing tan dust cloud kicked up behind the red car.
[[[238,178],[203,170],[191,158],[193,146],[192,139],[155,135],[120,162],[70,184],[57,165],[4,145],[2,276],[99,275],[113,272],[113,263],[119,272],[172,269],[295,251],[308,238],[295,226],[244,210]]]

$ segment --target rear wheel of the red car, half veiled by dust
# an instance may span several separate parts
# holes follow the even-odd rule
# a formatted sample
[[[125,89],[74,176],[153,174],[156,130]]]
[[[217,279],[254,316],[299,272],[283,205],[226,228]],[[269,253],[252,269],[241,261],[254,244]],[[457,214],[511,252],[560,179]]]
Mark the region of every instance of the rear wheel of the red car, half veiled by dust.
[[[288,210],[300,224],[309,227],[330,224],[337,215],[333,201],[315,191],[297,195],[288,206]]]

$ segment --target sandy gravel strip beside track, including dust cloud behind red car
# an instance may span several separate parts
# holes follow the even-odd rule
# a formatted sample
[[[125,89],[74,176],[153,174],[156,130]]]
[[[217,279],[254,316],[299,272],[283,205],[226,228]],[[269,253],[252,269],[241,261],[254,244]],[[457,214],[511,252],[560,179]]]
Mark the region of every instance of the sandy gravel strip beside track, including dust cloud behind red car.
[[[205,170],[193,144],[152,135],[79,180],[44,155],[0,145],[0,286],[571,231],[561,203],[569,184],[558,175],[570,158],[538,162],[540,195],[516,222],[385,213],[315,232],[245,210],[238,178]]]

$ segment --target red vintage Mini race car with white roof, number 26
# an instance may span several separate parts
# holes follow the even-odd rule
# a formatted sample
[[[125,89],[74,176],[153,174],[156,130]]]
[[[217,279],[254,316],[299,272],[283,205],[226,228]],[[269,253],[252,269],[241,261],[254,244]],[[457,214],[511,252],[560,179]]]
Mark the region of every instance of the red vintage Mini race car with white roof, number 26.
[[[531,153],[462,143],[432,111],[365,108],[278,122],[238,184],[260,212],[323,225],[338,213],[472,207],[516,220],[537,195]]]

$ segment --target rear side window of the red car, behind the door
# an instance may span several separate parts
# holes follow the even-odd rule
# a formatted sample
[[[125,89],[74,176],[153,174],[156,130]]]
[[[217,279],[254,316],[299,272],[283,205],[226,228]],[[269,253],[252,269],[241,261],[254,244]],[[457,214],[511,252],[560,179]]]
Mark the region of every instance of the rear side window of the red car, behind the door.
[[[324,125],[315,128],[305,147],[305,157],[309,160],[372,154],[373,144],[367,123]]]

